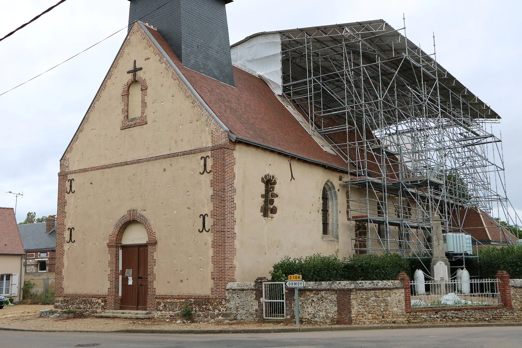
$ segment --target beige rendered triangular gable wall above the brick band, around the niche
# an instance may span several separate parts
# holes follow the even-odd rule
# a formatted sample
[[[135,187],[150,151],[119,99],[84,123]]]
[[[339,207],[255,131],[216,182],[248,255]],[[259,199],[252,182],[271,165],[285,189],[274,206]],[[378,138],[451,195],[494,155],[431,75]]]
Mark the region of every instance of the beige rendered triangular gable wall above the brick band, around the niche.
[[[212,126],[179,82],[165,71],[161,57],[141,40],[140,32],[128,40],[89,121],[67,155],[69,170],[210,146]],[[147,124],[121,130],[122,90],[132,78],[127,70],[133,68],[134,59],[137,67],[143,67],[137,74],[147,80]]]

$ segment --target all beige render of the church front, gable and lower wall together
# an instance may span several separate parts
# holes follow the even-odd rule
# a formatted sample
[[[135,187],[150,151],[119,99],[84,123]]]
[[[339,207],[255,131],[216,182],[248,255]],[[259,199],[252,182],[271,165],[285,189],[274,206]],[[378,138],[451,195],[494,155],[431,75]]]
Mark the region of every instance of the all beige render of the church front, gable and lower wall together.
[[[136,30],[131,30],[124,42],[62,161],[61,171],[69,173],[67,179],[74,179],[74,193],[65,195],[64,213],[59,209],[66,240],[67,227],[75,228],[75,242],[63,243],[63,293],[108,293],[108,237],[118,219],[136,209],[149,221],[157,238],[156,294],[208,295],[212,287],[212,234],[198,229],[199,214],[209,215],[207,228],[212,224],[212,174],[199,172],[203,170],[200,157],[210,155],[201,149],[212,145],[215,125],[201,116],[192,96],[180,86],[181,80],[173,79],[172,68],[149,47],[148,38],[143,40],[145,33],[139,26],[133,28]],[[134,60],[137,67],[143,67],[137,75],[147,83],[147,124],[120,129],[122,91],[132,78],[127,70],[132,69]],[[194,152],[163,157],[191,150]],[[149,157],[156,158],[123,163]],[[100,165],[107,167],[91,170]],[[210,165],[211,161],[207,167]]]

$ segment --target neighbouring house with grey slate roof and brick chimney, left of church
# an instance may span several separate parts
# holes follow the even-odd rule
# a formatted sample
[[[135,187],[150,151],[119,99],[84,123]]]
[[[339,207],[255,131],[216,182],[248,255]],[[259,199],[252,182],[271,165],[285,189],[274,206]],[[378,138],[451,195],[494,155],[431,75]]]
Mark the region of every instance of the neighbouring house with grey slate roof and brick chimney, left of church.
[[[54,283],[56,252],[56,219],[50,215],[46,222],[18,225],[25,255],[23,280],[35,284],[32,291],[41,292]]]

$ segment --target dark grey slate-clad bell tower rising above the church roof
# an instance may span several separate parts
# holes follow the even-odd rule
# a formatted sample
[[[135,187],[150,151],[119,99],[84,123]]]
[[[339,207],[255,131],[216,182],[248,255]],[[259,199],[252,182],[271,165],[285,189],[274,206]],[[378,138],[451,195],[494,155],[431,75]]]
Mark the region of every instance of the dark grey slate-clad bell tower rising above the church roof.
[[[129,1],[129,26],[157,27],[184,66],[234,86],[225,8],[233,0]]]

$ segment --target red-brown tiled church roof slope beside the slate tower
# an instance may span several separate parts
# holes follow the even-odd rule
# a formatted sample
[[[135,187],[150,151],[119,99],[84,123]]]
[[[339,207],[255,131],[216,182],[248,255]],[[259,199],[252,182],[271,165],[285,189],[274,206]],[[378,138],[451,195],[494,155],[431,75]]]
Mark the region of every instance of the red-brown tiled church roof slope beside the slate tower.
[[[189,69],[183,66],[159,32],[145,28],[233,135],[299,157],[349,169],[339,155],[326,152],[318,145],[265,81],[233,66],[235,87],[232,87]]]

